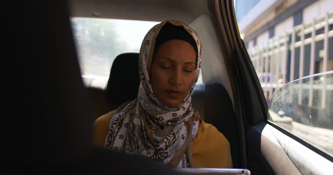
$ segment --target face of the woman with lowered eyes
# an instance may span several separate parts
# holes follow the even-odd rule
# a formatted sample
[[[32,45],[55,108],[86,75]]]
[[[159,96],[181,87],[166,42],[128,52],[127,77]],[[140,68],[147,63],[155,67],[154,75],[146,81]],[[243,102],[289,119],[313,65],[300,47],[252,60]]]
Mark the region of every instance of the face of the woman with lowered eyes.
[[[160,46],[153,57],[150,81],[161,103],[179,107],[194,80],[195,60],[194,48],[186,41],[174,39]]]

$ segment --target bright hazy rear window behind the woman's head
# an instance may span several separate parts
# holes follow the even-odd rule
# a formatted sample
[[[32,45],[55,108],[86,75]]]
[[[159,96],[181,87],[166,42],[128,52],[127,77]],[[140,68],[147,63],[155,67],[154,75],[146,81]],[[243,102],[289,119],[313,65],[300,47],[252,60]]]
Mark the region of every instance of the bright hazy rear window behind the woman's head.
[[[90,86],[101,88],[106,87],[113,60],[122,53],[139,53],[148,30],[160,23],[97,18],[70,18],[70,22],[81,75]]]

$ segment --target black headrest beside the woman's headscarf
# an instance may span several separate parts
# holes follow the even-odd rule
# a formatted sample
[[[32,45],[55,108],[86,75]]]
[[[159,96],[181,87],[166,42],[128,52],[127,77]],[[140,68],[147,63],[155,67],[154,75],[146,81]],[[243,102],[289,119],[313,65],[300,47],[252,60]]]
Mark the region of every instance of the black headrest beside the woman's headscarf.
[[[121,105],[138,96],[140,86],[139,53],[124,53],[112,63],[106,89],[109,103]]]

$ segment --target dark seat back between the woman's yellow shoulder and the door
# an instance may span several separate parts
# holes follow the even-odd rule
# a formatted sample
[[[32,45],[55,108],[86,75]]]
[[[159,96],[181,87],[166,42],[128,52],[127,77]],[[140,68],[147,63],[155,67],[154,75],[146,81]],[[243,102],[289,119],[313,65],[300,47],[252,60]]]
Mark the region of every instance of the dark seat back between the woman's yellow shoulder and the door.
[[[192,103],[201,118],[214,125],[228,139],[233,167],[240,168],[236,120],[228,92],[217,83],[196,85],[192,92]]]

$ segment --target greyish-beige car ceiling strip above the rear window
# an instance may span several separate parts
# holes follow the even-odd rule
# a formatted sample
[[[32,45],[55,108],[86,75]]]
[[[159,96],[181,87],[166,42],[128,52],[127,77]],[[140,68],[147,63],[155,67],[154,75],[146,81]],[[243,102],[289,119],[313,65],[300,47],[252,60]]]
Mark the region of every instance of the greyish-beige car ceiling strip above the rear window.
[[[70,0],[72,17],[139,21],[166,19],[189,24],[202,14],[209,15],[207,0]]]

